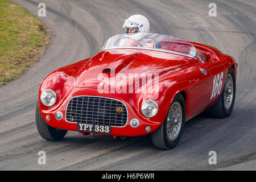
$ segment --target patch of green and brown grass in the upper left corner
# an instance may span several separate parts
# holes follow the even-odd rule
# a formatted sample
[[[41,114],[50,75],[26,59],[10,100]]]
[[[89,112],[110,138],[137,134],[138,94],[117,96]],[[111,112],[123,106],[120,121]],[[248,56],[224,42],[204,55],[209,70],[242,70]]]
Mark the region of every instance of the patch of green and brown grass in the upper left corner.
[[[49,31],[34,15],[0,0],[0,86],[14,80],[43,55]]]

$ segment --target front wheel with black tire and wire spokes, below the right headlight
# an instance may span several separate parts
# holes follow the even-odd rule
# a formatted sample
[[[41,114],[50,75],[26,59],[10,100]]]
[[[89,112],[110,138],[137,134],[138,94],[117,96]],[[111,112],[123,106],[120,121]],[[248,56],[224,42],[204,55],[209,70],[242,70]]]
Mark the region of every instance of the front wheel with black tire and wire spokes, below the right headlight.
[[[180,116],[181,118],[177,119],[170,119],[171,117],[168,117],[172,113],[172,109],[179,108],[181,111]],[[177,110],[177,111],[179,111]],[[176,122],[175,122],[176,121]],[[180,123],[179,126],[177,126],[177,122]],[[173,125],[172,125],[173,124]],[[179,131],[176,133],[176,137],[171,137],[170,133],[168,133],[168,125],[170,126],[177,126],[179,128]],[[156,148],[162,149],[162,150],[170,150],[171,148],[174,148],[177,143],[179,143],[180,137],[183,133],[185,125],[185,101],[183,96],[178,93],[174,100],[172,101],[171,107],[167,113],[166,119],[164,119],[163,124],[156,130],[154,133],[151,134],[152,143]],[[171,130],[172,131],[172,130]]]

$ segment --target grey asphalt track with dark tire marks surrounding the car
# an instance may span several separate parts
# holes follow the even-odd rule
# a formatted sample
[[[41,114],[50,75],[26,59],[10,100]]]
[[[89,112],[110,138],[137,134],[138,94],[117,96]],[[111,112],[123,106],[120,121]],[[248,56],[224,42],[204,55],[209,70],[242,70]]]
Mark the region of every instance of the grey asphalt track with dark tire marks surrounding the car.
[[[256,169],[255,0],[214,1],[217,17],[208,15],[212,0],[13,2],[35,15],[38,4],[46,3],[46,17],[40,19],[52,39],[38,63],[0,88],[0,170]],[[113,140],[69,132],[58,142],[43,140],[35,125],[40,82],[55,69],[96,54],[110,36],[125,32],[122,23],[133,14],[147,16],[151,32],[209,44],[237,60],[232,115],[198,115],[186,123],[178,146],[169,151],[156,149],[149,135]],[[39,151],[46,152],[46,165],[38,164]],[[216,151],[216,165],[209,165],[209,151]]]

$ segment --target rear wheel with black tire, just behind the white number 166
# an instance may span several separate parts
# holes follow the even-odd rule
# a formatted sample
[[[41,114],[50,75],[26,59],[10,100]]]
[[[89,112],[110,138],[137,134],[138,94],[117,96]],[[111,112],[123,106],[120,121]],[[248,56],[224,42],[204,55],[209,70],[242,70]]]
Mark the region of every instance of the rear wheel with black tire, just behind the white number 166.
[[[228,80],[232,78],[233,81],[233,93],[232,93],[232,101],[227,104],[225,102],[225,96],[229,94],[228,89],[226,89],[226,84],[228,83]],[[211,114],[214,118],[227,118],[232,113],[234,101],[236,98],[236,77],[234,75],[234,69],[231,67],[229,68],[229,71],[227,73],[225,82],[224,82],[224,88],[221,92],[220,98],[218,98],[218,101],[216,104],[214,104],[212,107],[210,107]]]

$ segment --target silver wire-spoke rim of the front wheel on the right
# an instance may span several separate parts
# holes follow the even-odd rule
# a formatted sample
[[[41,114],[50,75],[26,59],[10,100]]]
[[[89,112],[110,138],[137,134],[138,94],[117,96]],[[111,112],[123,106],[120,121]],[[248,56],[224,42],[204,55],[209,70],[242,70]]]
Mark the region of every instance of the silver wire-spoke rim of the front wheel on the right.
[[[175,102],[169,110],[166,127],[168,138],[171,141],[175,140],[179,134],[181,122],[182,108],[179,102]]]

